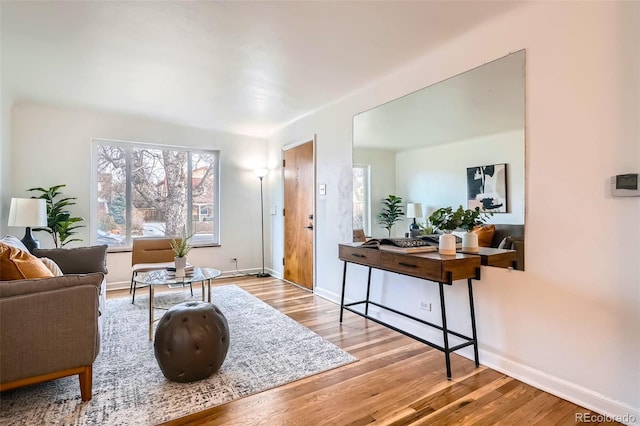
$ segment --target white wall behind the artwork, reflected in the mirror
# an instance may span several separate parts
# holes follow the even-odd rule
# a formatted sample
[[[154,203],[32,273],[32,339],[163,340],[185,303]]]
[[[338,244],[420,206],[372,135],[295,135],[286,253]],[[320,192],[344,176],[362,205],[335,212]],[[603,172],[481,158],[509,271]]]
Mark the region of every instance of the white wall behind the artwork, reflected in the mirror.
[[[428,217],[435,209],[467,207],[468,167],[507,164],[507,213],[488,223],[524,223],[524,133],[504,132],[398,153],[396,194],[423,203]]]

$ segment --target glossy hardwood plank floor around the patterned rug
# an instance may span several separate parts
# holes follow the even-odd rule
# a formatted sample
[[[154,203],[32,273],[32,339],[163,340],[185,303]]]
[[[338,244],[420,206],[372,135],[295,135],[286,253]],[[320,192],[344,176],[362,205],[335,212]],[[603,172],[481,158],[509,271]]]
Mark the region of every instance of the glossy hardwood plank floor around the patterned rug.
[[[230,283],[359,361],[168,425],[575,425],[595,414],[455,354],[449,381],[442,352],[350,312],[340,325],[339,306],[281,280],[216,280]]]

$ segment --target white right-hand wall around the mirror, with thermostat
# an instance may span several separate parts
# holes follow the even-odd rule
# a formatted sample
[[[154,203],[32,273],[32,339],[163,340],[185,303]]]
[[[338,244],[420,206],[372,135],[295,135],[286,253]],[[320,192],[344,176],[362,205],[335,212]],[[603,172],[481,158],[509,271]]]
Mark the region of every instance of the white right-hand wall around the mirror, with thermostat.
[[[522,5],[274,135],[271,156],[317,135],[317,182],[327,195],[317,209],[316,292],[338,300],[337,245],[351,239],[352,117],[524,48],[527,270],[483,268],[475,286],[481,362],[638,421],[640,198],[610,197],[608,180],[640,170],[639,28],[638,2]],[[273,184],[281,199],[281,182]],[[281,231],[278,217],[274,254]],[[393,281],[391,302],[403,309],[434,300],[428,283],[377,279],[376,296]],[[447,290],[451,308],[466,306],[463,286]],[[452,326],[465,331],[466,310],[451,308]]]

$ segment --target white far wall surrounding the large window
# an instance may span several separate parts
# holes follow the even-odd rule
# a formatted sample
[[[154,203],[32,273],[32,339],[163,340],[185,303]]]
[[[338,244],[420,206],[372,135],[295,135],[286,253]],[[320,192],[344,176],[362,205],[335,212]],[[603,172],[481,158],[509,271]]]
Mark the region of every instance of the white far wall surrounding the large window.
[[[50,106],[16,104],[11,127],[11,183],[7,197],[28,197],[26,189],[66,184],[64,195],[77,197],[74,214],[83,216],[88,227],[80,237],[87,244],[91,199],[91,141],[93,138],[148,142],[220,150],[221,169],[221,247],[194,249],[190,261],[223,271],[261,266],[260,181],[253,169],[264,167],[266,144],[263,139],[175,126],[141,118],[90,111],[74,111]],[[4,158],[4,152],[3,152]],[[4,160],[3,160],[4,161]],[[268,179],[268,177],[267,177]],[[267,196],[265,205],[269,205]],[[71,209],[70,209],[71,210]],[[268,225],[268,222],[267,222]],[[270,266],[266,226],[265,256]],[[13,234],[24,230],[11,228]],[[19,235],[21,236],[21,235]],[[43,247],[51,246],[46,233],[37,233]],[[108,282],[130,279],[131,253],[109,253]]]

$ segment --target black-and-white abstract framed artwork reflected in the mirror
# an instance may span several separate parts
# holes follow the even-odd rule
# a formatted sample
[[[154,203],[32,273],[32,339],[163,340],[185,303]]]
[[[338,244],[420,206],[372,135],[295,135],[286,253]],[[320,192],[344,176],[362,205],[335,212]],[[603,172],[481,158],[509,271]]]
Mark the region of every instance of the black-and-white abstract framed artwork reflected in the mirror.
[[[507,165],[467,168],[467,208],[507,213]]]

